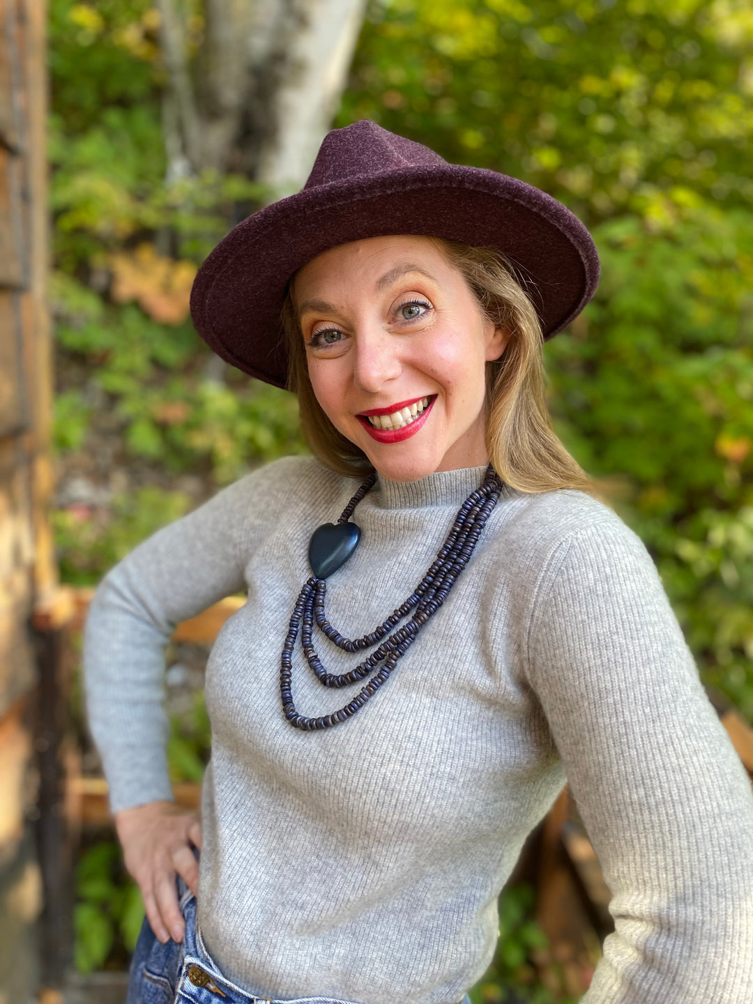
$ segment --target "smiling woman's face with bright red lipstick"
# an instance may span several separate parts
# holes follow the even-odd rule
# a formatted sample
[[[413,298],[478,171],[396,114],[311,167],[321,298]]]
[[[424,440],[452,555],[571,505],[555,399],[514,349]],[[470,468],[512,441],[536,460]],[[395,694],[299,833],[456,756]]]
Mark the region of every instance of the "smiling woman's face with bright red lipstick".
[[[426,237],[325,251],[293,283],[316,400],[394,481],[487,462],[485,366],[509,334]]]

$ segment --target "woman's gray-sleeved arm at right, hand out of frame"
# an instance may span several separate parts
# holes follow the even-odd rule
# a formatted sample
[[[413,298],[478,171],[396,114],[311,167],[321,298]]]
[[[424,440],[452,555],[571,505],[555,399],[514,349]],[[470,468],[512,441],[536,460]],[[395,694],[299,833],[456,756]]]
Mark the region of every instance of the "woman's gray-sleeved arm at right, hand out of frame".
[[[609,514],[535,596],[527,678],[612,894],[582,1004],[750,1004],[753,793],[651,556]]]

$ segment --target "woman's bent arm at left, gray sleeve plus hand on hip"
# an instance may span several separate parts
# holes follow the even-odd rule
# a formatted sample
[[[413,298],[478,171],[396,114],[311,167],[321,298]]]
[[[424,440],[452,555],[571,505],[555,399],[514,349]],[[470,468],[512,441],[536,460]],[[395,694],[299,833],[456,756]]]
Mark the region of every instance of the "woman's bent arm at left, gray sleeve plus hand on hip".
[[[91,733],[109,783],[126,864],[163,942],[183,937],[175,875],[196,892],[193,846],[201,823],[172,798],[163,709],[165,646],[175,625],[244,585],[247,557],[291,484],[301,458],[243,478],[206,505],[160,530],[102,580],[89,607],[84,645]],[[292,478],[291,478],[292,475]]]

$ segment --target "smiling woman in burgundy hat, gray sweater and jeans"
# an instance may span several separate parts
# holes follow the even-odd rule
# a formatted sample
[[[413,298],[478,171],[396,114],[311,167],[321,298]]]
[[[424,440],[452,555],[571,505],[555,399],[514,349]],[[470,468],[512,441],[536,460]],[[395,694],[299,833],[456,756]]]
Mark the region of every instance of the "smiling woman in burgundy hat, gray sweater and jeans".
[[[596,281],[554,200],[368,121],[202,266],[200,333],[289,382],[319,459],[220,492],[92,602],[91,727],[149,921],[129,1004],[456,1004],[565,780],[615,920],[583,1001],[753,1000],[747,776],[546,416],[542,335]],[[163,647],[240,588],[200,824],[171,801]]]

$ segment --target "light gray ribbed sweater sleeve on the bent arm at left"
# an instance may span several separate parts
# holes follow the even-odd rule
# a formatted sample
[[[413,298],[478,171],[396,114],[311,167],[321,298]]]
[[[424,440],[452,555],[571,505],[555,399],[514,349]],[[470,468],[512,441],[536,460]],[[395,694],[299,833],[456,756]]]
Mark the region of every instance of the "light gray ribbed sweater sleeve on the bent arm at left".
[[[179,621],[243,587],[253,478],[144,541],[93,596],[84,637],[85,696],[113,812],[173,797],[165,647]],[[257,501],[263,504],[263,493]]]

